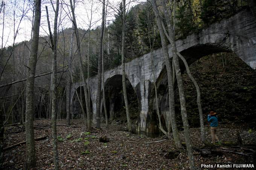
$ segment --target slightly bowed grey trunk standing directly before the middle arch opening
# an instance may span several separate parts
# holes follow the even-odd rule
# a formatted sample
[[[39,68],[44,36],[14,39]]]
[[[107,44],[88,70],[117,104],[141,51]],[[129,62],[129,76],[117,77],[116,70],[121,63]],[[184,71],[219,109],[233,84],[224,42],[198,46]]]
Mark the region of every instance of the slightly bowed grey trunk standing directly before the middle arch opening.
[[[129,104],[126,92],[126,78],[125,78],[125,27],[126,27],[126,11],[125,11],[125,0],[123,0],[123,30],[122,30],[122,83],[123,83],[123,98],[125,101],[125,111],[127,117],[128,130],[131,132],[131,118],[129,113]]]

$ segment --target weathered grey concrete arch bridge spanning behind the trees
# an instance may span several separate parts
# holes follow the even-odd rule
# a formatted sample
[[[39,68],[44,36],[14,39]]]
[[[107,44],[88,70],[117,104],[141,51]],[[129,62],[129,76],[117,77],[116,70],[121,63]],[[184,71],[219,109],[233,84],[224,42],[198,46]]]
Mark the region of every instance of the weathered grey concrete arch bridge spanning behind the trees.
[[[250,10],[245,10],[233,17],[222,20],[219,23],[214,23],[211,26],[203,29],[198,34],[187,36],[186,39],[177,40],[176,45],[178,51],[186,58],[190,65],[203,56],[219,53],[219,52],[234,52],[251,68],[256,69],[256,21]],[[171,49],[169,54],[172,57]],[[170,58],[171,59],[171,58]],[[165,89],[167,88],[167,77],[165,62],[163,59],[162,48],[153,51],[152,62],[155,76],[157,77],[157,90],[159,91],[157,99],[160,101],[160,111],[163,122],[168,123],[168,95]],[[154,99],[151,98],[152,89],[154,86],[153,71],[151,67],[150,54],[144,54],[130,62],[125,63],[125,74],[130,81],[134,90],[137,93],[139,101],[140,116],[138,119],[137,130],[143,132],[157,131],[157,120],[154,111]],[[184,70],[184,65],[181,64],[181,69]],[[114,112],[114,98],[117,90],[122,88],[122,68],[118,66],[108,70],[105,73],[105,92],[106,100],[109,103],[110,115]],[[93,103],[93,121],[95,122],[96,114],[96,87],[97,76],[90,79],[91,101]],[[73,84],[72,96],[75,89],[80,86],[80,83]],[[161,89],[163,92],[161,92]],[[154,96],[154,95],[153,95]],[[73,100],[72,100],[73,103]],[[149,105],[153,105],[153,109],[149,109]],[[73,103],[74,104],[74,103]]]

